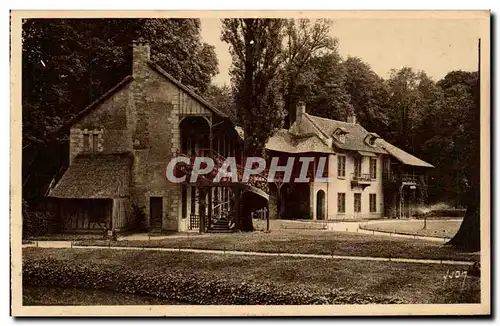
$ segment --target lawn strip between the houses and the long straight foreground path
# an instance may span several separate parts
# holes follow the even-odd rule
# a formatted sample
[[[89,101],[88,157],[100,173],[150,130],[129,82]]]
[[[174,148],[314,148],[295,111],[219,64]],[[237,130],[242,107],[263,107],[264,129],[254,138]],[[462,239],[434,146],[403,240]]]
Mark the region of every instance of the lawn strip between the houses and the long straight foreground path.
[[[443,260],[478,260],[479,253],[461,252],[443,243],[325,230],[276,230],[269,233],[226,233],[150,241],[87,240],[77,245],[195,248],[258,252],[334,254]]]

